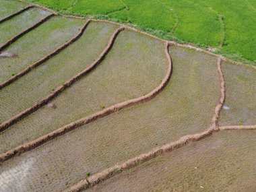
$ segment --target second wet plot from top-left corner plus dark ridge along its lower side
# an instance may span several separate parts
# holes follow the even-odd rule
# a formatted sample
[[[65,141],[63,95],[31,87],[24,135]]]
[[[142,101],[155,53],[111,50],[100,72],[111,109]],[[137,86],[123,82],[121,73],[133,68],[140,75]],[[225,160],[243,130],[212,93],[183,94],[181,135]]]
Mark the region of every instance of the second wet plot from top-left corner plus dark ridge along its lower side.
[[[3,51],[9,44],[53,17],[53,15],[53,13],[40,9],[29,9],[0,24],[0,51]]]

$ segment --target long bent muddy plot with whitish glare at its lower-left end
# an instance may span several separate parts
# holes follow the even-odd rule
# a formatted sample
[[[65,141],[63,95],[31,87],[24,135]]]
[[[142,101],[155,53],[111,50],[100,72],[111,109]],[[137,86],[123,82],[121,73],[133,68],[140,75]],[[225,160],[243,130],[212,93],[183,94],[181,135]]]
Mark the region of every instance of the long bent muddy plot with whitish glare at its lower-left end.
[[[12,182],[18,181],[20,175],[26,174],[26,167],[30,167],[30,174],[22,179],[23,187],[9,183],[5,188],[19,191],[26,191],[29,186],[32,191],[65,189],[84,178],[85,172],[93,174],[156,145],[207,128],[220,91],[216,58],[176,47],[172,47],[170,53],[174,66],[172,77],[159,96],[75,129],[3,163],[2,171],[6,172],[3,178],[19,170],[11,174]]]

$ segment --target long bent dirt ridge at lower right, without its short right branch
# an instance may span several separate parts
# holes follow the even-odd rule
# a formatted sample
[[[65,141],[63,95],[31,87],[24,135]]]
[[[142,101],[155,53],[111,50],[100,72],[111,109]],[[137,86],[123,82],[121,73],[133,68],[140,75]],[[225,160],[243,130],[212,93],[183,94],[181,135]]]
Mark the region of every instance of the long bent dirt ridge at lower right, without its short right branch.
[[[102,183],[103,181],[110,179],[111,177],[114,177],[115,175],[119,174],[120,172],[123,172],[124,170],[129,170],[130,168],[133,168],[143,162],[147,162],[148,160],[152,160],[153,158],[156,158],[161,154],[177,150],[179,148],[182,148],[183,146],[186,146],[188,143],[199,141],[201,139],[204,139],[205,137],[211,136],[214,132],[218,132],[220,130],[218,127],[218,119],[220,116],[220,110],[222,109],[225,100],[225,82],[222,73],[221,63],[222,57],[217,57],[217,70],[220,77],[220,96],[214,110],[214,115],[212,117],[212,123],[210,127],[208,127],[205,131],[201,133],[185,135],[178,139],[177,141],[172,141],[171,143],[165,144],[158,148],[154,148],[153,150],[150,150],[150,152],[140,154],[135,158],[131,158],[125,162],[121,162],[121,164],[110,166],[109,168],[106,168],[101,172],[93,174],[92,176],[83,179],[82,181],[79,181],[75,185],[71,186],[69,189],[66,189],[65,192],[79,192],[82,191],[83,189],[94,187],[98,183]]]

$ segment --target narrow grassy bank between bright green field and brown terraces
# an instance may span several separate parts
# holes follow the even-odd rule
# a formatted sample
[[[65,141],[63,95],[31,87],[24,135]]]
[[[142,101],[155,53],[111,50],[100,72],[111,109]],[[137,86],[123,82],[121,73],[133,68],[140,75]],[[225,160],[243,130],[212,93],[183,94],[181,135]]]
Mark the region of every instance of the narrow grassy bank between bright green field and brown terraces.
[[[63,16],[67,16],[67,17],[71,17],[71,18],[78,18],[78,19],[94,19],[94,20],[104,20],[104,21],[110,21],[110,22],[115,22],[118,24],[123,24],[132,28],[136,28],[137,30],[141,30],[143,32],[147,32],[148,34],[152,34],[154,36],[157,36],[158,38],[164,39],[164,40],[172,40],[175,42],[178,42],[180,44],[189,44],[190,46],[195,46],[195,48],[200,48],[204,51],[207,51],[207,46],[201,46],[201,44],[198,44],[197,42],[188,42],[186,40],[181,40],[177,37],[174,36],[170,36],[170,34],[161,31],[161,30],[153,30],[151,28],[145,28],[145,26],[139,26],[137,24],[131,24],[131,23],[127,23],[127,22],[122,22],[121,20],[117,20],[115,18],[109,18],[108,15],[79,15],[79,14],[75,14],[75,13],[67,13],[63,11],[60,11],[58,9],[55,9],[55,7],[51,7],[51,6],[47,6],[47,5],[42,5],[40,3],[32,3],[30,1],[24,1],[24,0],[17,0],[17,1],[22,1],[24,3],[28,3],[30,5],[34,5],[34,6],[38,6],[41,7],[42,9],[46,9],[46,10],[55,10],[53,12],[58,13],[59,15],[63,15]],[[199,3],[200,4],[200,3]],[[205,7],[205,5],[200,5],[201,7]],[[214,11],[214,10],[213,10]],[[214,53],[214,52],[212,52]],[[234,54],[230,54],[227,53],[225,51],[219,50],[216,52],[217,54],[220,54],[220,56],[224,56],[227,57],[230,60],[233,60],[234,62],[243,62],[246,63],[248,65],[253,65],[256,67],[256,63],[255,61],[249,60],[249,59],[245,59],[244,57],[241,57],[241,55],[234,55]]]

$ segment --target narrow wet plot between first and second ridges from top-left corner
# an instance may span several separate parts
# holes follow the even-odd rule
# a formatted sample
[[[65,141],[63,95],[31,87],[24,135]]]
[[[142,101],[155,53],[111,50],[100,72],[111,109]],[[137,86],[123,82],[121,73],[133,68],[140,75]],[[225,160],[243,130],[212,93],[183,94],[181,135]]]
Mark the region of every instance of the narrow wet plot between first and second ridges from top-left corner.
[[[40,9],[29,9],[11,20],[0,24],[0,46],[11,39],[13,36],[30,28],[50,13]]]

